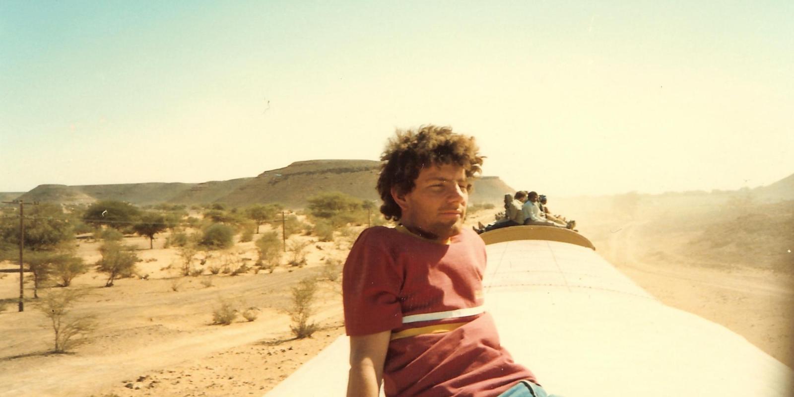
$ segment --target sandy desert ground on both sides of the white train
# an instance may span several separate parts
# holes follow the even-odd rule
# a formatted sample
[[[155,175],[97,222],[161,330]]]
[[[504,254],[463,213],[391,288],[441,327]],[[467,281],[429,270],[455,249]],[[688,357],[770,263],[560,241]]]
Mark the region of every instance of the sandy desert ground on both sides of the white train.
[[[472,214],[468,223],[488,223],[494,212]],[[671,233],[660,239],[649,232],[652,222],[637,217],[596,223],[584,213],[576,215],[580,231],[598,252],[651,294],[727,326],[794,366],[791,276],[693,263],[671,249],[686,236]],[[145,239],[127,237],[126,243],[140,249],[139,273],[148,279],[121,279],[110,288],[102,287],[104,278],[95,272],[75,279],[73,288],[90,295],[74,314],[94,314],[99,327],[74,353],[46,353],[52,348],[52,330],[32,303],[23,313],[17,313],[15,304],[0,313],[0,395],[263,395],[344,333],[338,281],[319,283],[313,319],[322,328],[313,337],[293,339],[285,309],[290,288],[306,276],[321,274],[326,258],[344,260],[354,237],[322,243],[316,237],[293,237],[313,241],[303,268],[197,277],[176,274],[177,254],[162,248],[164,236],[151,250]],[[93,262],[97,249],[96,242],[82,242],[79,252]],[[238,243],[210,256],[206,265],[229,257],[255,260],[256,252],[252,243]],[[0,299],[18,295],[14,268],[0,264]],[[31,285],[26,287],[25,294],[32,295]],[[260,315],[253,322],[238,318],[229,326],[211,325],[211,312],[221,299],[241,308],[257,307]]]

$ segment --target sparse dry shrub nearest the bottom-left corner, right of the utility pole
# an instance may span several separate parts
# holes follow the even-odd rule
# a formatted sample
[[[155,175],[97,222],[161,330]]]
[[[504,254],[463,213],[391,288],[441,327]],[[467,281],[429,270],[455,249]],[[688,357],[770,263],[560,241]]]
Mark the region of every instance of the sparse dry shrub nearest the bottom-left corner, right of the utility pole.
[[[69,315],[71,307],[83,295],[83,291],[71,289],[49,291],[37,306],[50,319],[54,333],[54,353],[65,353],[82,345],[87,341],[87,335],[96,328],[93,316]]]

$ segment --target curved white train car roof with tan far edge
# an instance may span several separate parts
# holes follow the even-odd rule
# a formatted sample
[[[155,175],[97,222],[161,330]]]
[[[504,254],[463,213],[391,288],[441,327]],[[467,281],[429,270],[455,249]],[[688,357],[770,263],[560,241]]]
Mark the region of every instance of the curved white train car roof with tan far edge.
[[[485,304],[502,344],[565,397],[794,396],[794,371],[744,337],[665,306],[578,233],[515,226],[482,234]],[[345,395],[339,337],[268,397]]]

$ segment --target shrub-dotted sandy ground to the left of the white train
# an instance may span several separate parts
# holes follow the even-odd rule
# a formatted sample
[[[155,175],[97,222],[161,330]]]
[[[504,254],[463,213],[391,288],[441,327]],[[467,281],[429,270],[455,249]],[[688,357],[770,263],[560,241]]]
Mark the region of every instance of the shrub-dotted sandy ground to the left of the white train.
[[[321,275],[326,258],[344,260],[349,239],[343,239],[347,245],[316,242],[316,237],[292,239],[312,241],[303,268],[191,277],[178,276],[177,252],[161,248],[163,237],[155,249],[148,249],[141,237],[126,237],[126,244],[140,249],[139,274],[148,279],[121,279],[114,287],[103,287],[105,276],[95,272],[75,279],[70,288],[88,295],[73,314],[92,314],[99,326],[73,353],[47,353],[52,329],[33,302],[22,313],[16,303],[0,313],[0,395],[264,394],[344,330],[338,281],[318,284],[312,319],[321,329],[312,337],[293,338],[286,309],[291,287]],[[79,253],[93,262],[98,245],[80,243]],[[198,254],[204,256],[206,252]],[[214,252],[205,268],[229,257],[255,260],[256,252],[252,243],[238,243]],[[18,295],[15,269],[8,262],[0,267],[2,298]],[[25,295],[32,295],[29,284]],[[253,322],[238,317],[229,326],[212,325],[212,310],[221,300],[241,309],[257,307],[259,316]]]

